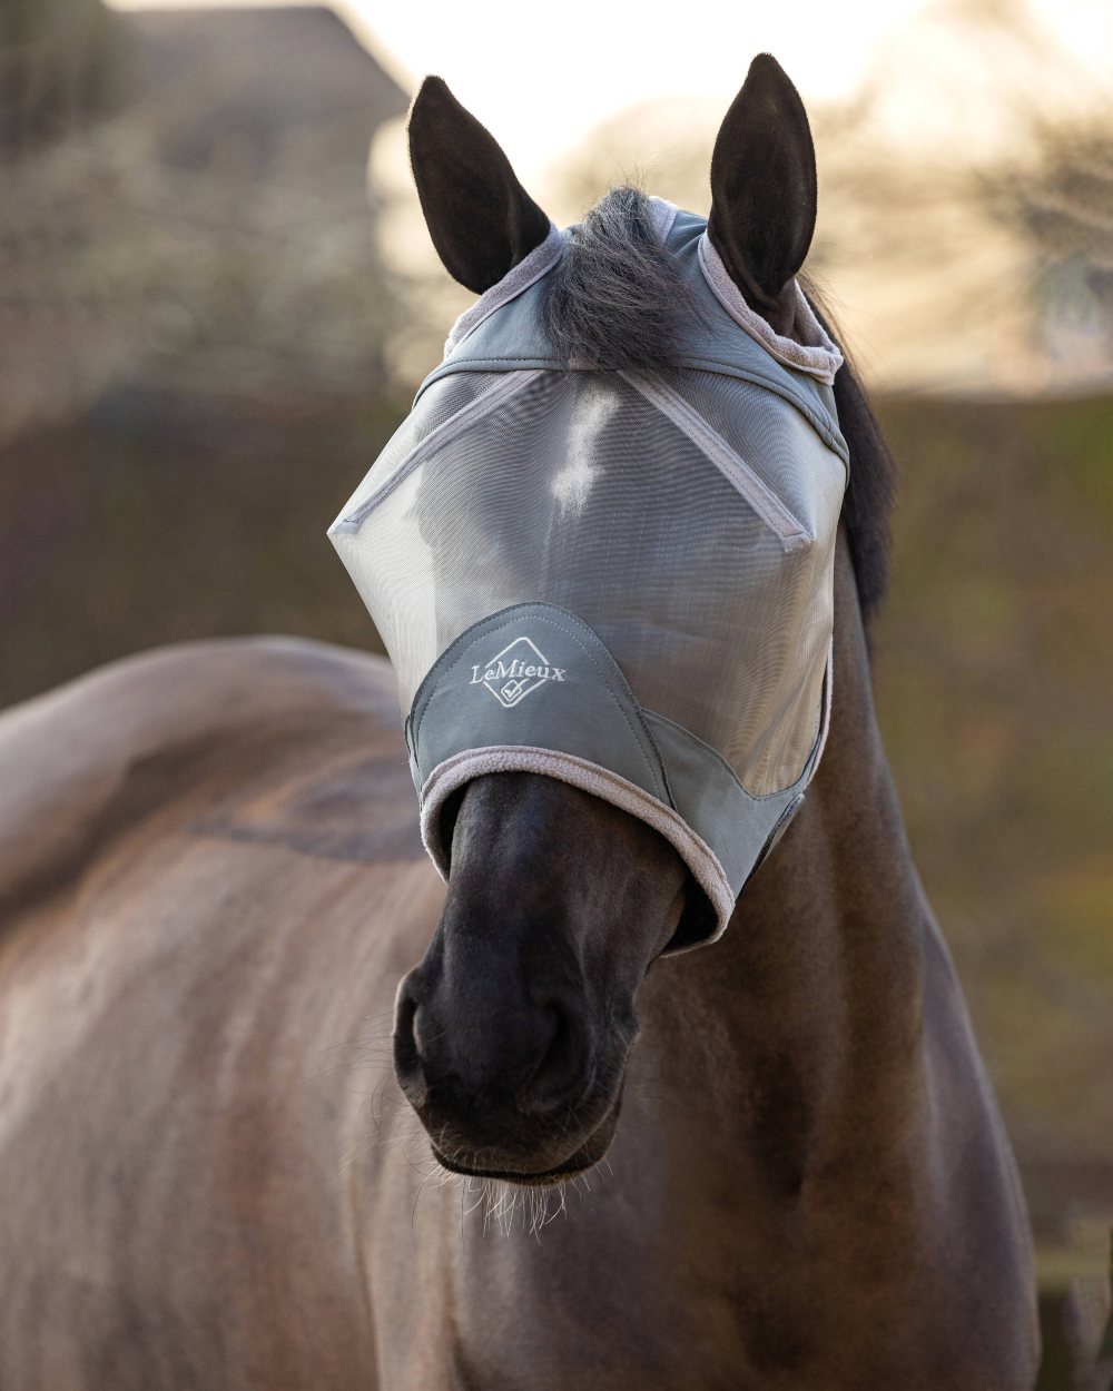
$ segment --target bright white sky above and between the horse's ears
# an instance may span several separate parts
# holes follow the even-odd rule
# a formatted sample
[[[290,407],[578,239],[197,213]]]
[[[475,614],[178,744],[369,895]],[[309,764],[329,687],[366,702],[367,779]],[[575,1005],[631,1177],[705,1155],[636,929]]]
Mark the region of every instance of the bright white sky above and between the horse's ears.
[[[152,0],[114,3],[139,8]],[[213,0],[161,3],[193,7]],[[529,184],[623,107],[661,96],[721,96],[729,102],[754,53],[774,53],[806,102],[846,96],[886,42],[917,15],[975,4],[1009,13],[1024,0],[703,0],[668,6],[636,0],[559,0],[550,6],[527,0],[337,0],[335,8],[403,86],[413,89],[423,74],[440,72],[494,131]],[[1095,77],[1113,71],[1110,0],[1028,0],[1027,10]],[[665,22],[655,15],[665,15]]]

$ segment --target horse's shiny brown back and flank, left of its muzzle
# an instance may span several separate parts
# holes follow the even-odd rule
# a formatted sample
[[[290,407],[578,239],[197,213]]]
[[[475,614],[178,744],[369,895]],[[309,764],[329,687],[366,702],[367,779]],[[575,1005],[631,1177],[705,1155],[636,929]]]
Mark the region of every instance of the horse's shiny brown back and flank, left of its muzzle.
[[[159,651],[0,768],[0,1384],[367,1384],[360,1068],[441,903],[390,669]]]

